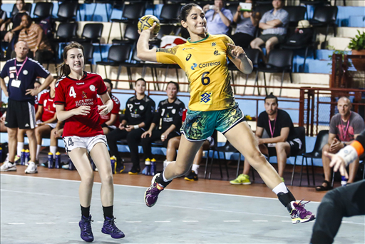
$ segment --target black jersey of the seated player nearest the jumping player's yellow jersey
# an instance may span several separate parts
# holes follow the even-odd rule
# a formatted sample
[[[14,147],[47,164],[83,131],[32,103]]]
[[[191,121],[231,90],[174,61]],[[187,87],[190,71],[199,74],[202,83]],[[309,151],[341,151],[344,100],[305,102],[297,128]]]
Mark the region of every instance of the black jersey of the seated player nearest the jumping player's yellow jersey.
[[[185,104],[179,98],[176,98],[173,103],[169,103],[168,99],[160,101],[153,123],[158,128],[162,118],[161,131],[166,131],[172,124],[176,126],[175,131],[180,131],[184,108]]]

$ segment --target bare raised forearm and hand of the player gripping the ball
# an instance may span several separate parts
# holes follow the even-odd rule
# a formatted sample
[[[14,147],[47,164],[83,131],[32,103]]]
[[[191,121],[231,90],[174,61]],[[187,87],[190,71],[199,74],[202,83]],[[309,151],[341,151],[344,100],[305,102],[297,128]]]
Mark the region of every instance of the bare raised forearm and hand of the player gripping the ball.
[[[145,29],[142,32],[138,30],[140,38],[137,43],[137,56],[138,59],[144,61],[157,62],[156,59],[156,49],[150,49],[148,46],[148,41],[153,38],[153,29],[155,29],[156,24],[154,23],[151,28]]]

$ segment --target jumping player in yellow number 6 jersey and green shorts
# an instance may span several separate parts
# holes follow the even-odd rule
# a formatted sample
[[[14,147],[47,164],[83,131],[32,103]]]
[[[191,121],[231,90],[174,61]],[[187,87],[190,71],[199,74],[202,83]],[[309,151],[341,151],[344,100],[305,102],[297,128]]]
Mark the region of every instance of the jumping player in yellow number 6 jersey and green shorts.
[[[206,32],[207,20],[204,11],[197,4],[183,6],[180,21],[190,34],[185,44],[170,49],[149,49],[148,41],[154,36],[155,24],[140,33],[137,44],[139,59],[178,63],[190,83],[189,109],[180,130],[183,135],[177,159],[168,164],[163,173],[153,177],[152,184],[145,192],[146,205],[155,205],[161,190],[174,178],[183,176],[190,170],[200,146],[216,129],[247,158],[264,183],[277,194],[280,202],[292,215],[292,223],[314,220],[314,214],[307,211],[303,203],[295,201],[277,171],[260,153],[255,136],[235,102],[227,57],[243,73],[251,73],[252,61],[240,46],[235,46],[230,37]]]

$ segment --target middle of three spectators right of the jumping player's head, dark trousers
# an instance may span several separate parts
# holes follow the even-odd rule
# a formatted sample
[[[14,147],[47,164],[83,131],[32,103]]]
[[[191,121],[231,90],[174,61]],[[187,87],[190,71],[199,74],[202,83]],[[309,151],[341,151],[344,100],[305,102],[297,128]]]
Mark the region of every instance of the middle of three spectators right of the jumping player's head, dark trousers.
[[[251,4],[252,0],[246,0],[246,3]],[[261,19],[261,14],[255,11],[241,11],[241,6],[238,5],[233,21],[237,23],[236,33],[232,36],[232,41],[235,45],[247,48],[255,39],[257,25]]]

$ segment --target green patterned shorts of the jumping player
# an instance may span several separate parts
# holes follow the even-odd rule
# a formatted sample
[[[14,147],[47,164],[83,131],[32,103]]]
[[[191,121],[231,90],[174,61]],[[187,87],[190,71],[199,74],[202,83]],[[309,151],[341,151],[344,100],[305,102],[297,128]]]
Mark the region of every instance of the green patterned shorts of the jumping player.
[[[237,103],[232,108],[218,111],[187,110],[180,132],[188,141],[205,141],[212,136],[214,130],[224,134],[243,121],[245,118]]]

